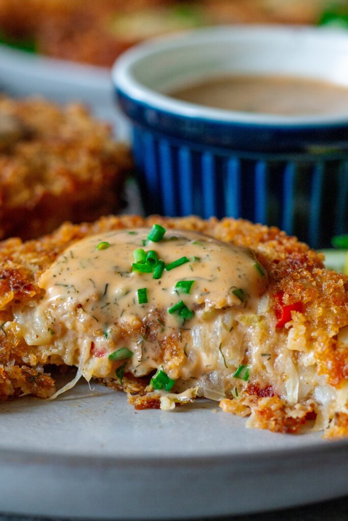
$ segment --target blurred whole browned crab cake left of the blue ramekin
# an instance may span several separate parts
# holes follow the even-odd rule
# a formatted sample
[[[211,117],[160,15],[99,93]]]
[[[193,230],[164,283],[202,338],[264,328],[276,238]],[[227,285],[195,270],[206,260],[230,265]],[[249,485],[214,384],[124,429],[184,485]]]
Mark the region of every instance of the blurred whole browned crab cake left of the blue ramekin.
[[[131,168],[127,147],[83,106],[0,96],[0,239],[118,212]]]

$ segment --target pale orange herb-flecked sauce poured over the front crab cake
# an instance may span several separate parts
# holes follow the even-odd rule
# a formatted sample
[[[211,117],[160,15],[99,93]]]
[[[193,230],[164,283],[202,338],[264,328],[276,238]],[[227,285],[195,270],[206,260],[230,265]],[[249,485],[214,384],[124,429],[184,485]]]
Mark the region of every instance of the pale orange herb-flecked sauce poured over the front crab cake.
[[[45,295],[38,306],[14,309],[26,342],[42,346],[46,357],[78,365],[87,379],[115,376],[125,362],[135,376],[163,367],[171,378],[191,382],[227,366],[235,370],[244,357],[243,319],[257,312],[266,271],[246,248],[206,235],[170,230],[144,246],[148,233],[93,235],[59,256],[41,276]],[[98,250],[102,242],[110,246]],[[153,279],[153,273],[132,271],[139,248],[155,251],[165,265],[183,256],[189,262]],[[183,280],[194,281],[189,293],[175,288]],[[145,304],[138,301],[142,288]],[[187,319],[168,311],[180,301],[193,313]],[[110,360],[121,348],[131,356]]]

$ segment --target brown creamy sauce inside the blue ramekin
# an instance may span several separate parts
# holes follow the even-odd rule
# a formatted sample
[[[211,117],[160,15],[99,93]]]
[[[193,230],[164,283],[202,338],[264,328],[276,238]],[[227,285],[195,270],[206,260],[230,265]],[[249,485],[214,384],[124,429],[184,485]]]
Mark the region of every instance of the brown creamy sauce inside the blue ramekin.
[[[257,114],[347,114],[348,88],[281,76],[225,76],[171,92],[179,100]]]

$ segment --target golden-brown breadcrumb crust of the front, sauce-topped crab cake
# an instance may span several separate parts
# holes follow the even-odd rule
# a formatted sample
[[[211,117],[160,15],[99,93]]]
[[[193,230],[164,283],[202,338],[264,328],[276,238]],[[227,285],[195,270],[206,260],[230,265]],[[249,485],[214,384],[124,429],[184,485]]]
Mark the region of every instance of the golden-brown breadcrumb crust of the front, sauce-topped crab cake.
[[[198,217],[164,218],[151,216],[103,217],[92,224],[64,224],[51,235],[39,240],[22,243],[9,239],[0,243],[0,396],[6,399],[21,392],[28,392],[27,371],[35,352],[21,337],[20,328],[11,322],[11,303],[37,301],[42,295],[38,287],[41,273],[49,267],[68,246],[86,235],[136,227],[150,227],[158,223],[165,228],[196,230],[214,238],[249,247],[269,274],[268,293],[277,304],[278,292],[284,292],[283,302],[301,301],[303,312],[293,315],[305,327],[304,340],[311,346],[318,371],[325,375],[331,386],[340,389],[348,378],[348,349],[338,339],[339,330],[348,325],[348,277],[323,268],[323,256],[310,250],[294,237],[278,228],[254,225],[245,220]],[[3,323],[4,322],[4,323]],[[279,334],[286,334],[284,332]],[[18,367],[16,379],[11,371]],[[20,380],[18,375],[23,375]],[[37,376],[34,370],[31,376]],[[123,385],[106,379],[111,387],[136,394],[133,401],[137,408],[158,407],[159,401],[145,395],[146,382],[125,375]],[[25,385],[26,384],[26,385]],[[32,386],[33,394],[42,396],[53,392],[53,381],[37,378]],[[277,432],[294,432],[306,419],[315,415],[313,401],[289,407],[271,390],[259,392],[257,386],[249,386],[242,400],[222,401],[225,410],[246,415],[252,412],[253,424]],[[333,423],[334,432],[342,436],[348,433],[346,415],[343,413]]]

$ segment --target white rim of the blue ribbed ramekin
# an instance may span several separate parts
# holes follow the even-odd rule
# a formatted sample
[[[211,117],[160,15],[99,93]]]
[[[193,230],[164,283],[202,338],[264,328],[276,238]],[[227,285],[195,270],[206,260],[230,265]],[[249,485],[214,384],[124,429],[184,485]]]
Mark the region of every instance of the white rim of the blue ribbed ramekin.
[[[166,49],[185,47],[194,42],[195,44],[205,43],[217,36],[227,38],[231,36],[231,31],[235,36],[265,34],[272,36],[284,36],[287,34],[299,34],[307,38],[316,37],[327,39],[328,41],[337,41],[338,44],[344,43],[348,47],[348,32],[344,30],[328,30],[318,27],[299,27],[299,26],[220,26],[217,28],[196,29],[193,31],[185,31],[175,35],[162,36],[148,42],[138,44],[123,53],[114,63],[112,68],[113,84],[123,94],[133,99],[135,102],[146,104],[147,106],[165,111],[173,116],[184,118],[195,118],[207,120],[211,123],[223,122],[234,123],[248,126],[275,126],[275,127],[315,127],[315,126],[342,126],[344,123],[348,125],[348,116],[277,116],[270,114],[250,114],[242,111],[223,110],[206,107],[194,103],[175,100],[170,96],[161,94],[155,90],[149,89],[142,85],[134,78],[132,69],[143,58],[156,55]],[[348,67],[347,67],[348,72]],[[313,76],[313,78],[315,78]]]

